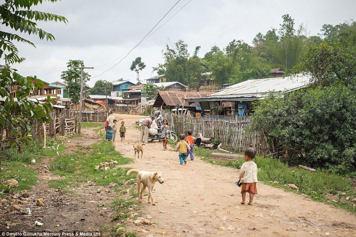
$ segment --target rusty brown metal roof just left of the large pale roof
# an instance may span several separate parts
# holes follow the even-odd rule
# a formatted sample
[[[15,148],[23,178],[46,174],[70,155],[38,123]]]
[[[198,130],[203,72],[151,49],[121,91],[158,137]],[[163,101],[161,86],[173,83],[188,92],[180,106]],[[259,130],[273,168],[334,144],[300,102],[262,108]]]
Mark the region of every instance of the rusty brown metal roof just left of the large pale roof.
[[[195,107],[195,105],[189,105],[188,102],[184,101],[185,98],[204,98],[213,94],[213,91],[159,91],[156,97],[153,107],[161,106],[177,106],[179,104],[184,107]]]

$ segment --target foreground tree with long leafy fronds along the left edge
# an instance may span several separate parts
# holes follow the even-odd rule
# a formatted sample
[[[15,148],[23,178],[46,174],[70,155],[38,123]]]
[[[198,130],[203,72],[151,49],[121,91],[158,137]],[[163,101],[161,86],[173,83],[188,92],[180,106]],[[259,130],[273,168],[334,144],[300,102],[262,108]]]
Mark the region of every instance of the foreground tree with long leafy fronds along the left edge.
[[[50,0],[57,2],[57,0]],[[11,64],[21,63],[25,58],[19,56],[19,50],[14,42],[24,42],[35,46],[31,41],[13,33],[20,31],[28,34],[36,34],[40,39],[46,38],[53,41],[54,36],[37,27],[37,21],[63,21],[67,19],[46,12],[33,11],[32,6],[42,3],[42,0],[9,0],[0,5],[0,58],[5,61],[5,65],[0,65],[0,134],[7,130],[10,136],[0,139],[0,171],[1,171],[1,150],[3,144],[10,146],[21,145],[31,140],[29,135],[33,128],[33,122],[50,122],[49,112],[53,111],[53,104],[50,97],[45,103],[34,104],[28,100],[28,95],[43,88],[43,82],[35,76],[23,77],[10,68]],[[8,27],[11,32],[5,32]]]

